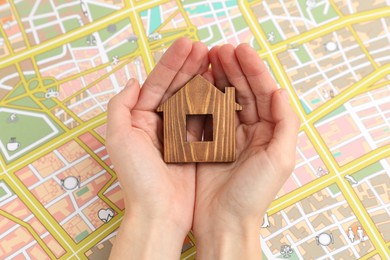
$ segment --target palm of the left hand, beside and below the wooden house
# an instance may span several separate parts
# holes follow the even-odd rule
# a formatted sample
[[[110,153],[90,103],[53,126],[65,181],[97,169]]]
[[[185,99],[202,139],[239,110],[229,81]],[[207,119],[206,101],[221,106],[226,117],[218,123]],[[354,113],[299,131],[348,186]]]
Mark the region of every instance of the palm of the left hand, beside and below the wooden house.
[[[156,135],[161,119],[154,111],[132,111],[132,134],[124,141],[128,150],[121,160],[127,162],[127,169],[136,168],[142,172],[136,176],[121,174],[118,171],[122,185],[126,189],[126,197],[138,197],[142,200],[143,208],[150,208],[149,214],[156,214],[161,209],[161,215],[167,211],[174,212],[180,226],[191,226],[194,200],[195,165],[165,164],[161,156],[161,143]],[[131,158],[131,160],[129,160]],[[136,185],[134,185],[136,184]],[[146,192],[145,192],[146,191]],[[139,193],[138,193],[139,192]],[[139,198],[138,194],[142,194]],[[146,206],[145,206],[146,205]]]

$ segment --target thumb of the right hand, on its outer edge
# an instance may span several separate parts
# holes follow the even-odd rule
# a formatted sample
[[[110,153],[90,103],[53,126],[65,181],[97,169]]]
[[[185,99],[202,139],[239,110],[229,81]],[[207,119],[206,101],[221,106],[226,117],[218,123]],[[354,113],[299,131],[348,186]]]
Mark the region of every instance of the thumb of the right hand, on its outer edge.
[[[275,122],[273,137],[268,146],[270,158],[275,165],[290,174],[295,165],[295,149],[300,121],[288,101],[287,91],[280,89],[272,96],[272,117]],[[281,154],[288,155],[280,158]]]

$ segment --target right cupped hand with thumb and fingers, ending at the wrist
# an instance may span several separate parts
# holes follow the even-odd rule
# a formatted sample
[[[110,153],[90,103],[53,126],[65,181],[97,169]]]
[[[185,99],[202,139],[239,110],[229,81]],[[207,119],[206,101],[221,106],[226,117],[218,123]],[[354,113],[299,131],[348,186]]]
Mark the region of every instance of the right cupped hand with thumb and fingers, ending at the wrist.
[[[243,109],[236,161],[197,165],[193,230],[203,240],[229,232],[258,237],[267,207],[293,170],[299,119],[249,45],[214,47],[209,59],[212,70],[204,76],[221,90],[235,86]]]

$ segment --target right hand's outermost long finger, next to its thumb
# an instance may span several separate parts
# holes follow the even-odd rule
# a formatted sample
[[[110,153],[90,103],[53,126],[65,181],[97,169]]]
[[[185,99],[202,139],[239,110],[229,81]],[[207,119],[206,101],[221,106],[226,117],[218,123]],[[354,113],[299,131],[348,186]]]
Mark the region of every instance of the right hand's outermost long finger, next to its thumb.
[[[272,121],[271,99],[277,89],[274,79],[256,51],[248,44],[240,44],[236,56],[251,87],[260,120]]]

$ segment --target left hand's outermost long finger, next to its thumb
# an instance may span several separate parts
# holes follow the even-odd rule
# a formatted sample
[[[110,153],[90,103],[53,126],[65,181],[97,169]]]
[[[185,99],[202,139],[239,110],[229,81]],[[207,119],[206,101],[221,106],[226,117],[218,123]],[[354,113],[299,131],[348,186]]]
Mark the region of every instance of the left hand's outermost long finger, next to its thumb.
[[[136,109],[155,110],[173,79],[191,53],[192,42],[187,38],[176,40],[164,53],[147,77]]]

